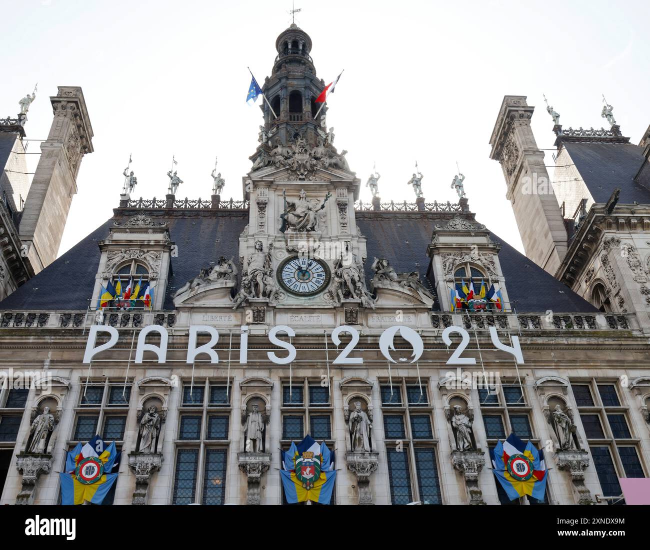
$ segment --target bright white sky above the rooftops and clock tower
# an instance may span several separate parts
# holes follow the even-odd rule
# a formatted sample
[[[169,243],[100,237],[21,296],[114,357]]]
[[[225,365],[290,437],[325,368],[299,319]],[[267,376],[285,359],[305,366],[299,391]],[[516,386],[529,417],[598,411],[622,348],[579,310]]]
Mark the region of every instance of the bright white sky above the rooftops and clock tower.
[[[177,197],[209,198],[214,156],[225,197],[257,146],[261,112],[246,105],[250,66],[270,74],[291,1],[0,0],[0,114],[38,81],[27,138],[44,139],[49,95],[81,86],[95,132],[77,179],[59,253],[112,215],[129,153],[135,196],[164,197],[172,155],[185,181]],[[298,0],[296,23],[313,40],[317,74],[330,82],[328,123],[363,184],[377,162],[382,200],[414,200],[417,160],[428,202],[456,200],[456,160],[476,218],[520,250],[489,137],[506,94],[536,106],[539,147],[551,148],[546,94],[565,126],[601,127],[602,98],[638,143],[650,123],[650,3],[626,1]],[[645,53],[644,53],[645,52]],[[259,103],[258,103],[259,105]],[[32,142],[28,151],[38,151]],[[546,151],[552,165],[552,151]],[[30,171],[37,155],[28,155]],[[361,199],[370,200],[363,188]]]

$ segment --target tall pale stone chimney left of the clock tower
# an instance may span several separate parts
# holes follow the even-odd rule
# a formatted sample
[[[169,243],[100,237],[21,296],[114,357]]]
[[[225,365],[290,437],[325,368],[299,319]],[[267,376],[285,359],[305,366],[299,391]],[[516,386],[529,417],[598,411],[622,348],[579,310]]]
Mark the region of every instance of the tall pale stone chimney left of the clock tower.
[[[35,273],[57,258],[72,197],[77,193],[81,159],[93,151],[92,126],[81,88],[59,86],[59,93],[49,99],[54,120],[47,141],[41,144],[19,227]]]

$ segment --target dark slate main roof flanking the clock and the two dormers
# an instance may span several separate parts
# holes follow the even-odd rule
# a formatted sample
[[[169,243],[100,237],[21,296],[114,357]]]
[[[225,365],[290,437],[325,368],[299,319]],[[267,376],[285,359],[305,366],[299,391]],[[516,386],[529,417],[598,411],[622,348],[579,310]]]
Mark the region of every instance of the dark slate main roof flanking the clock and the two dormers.
[[[205,211],[204,211],[205,212]],[[214,264],[219,256],[239,258],[239,235],[248,223],[248,212],[215,210],[201,216],[155,216],[165,221],[178,256],[172,257],[164,308],[174,309],[172,296],[178,288],[201,268]],[[16,292],[0,302],[0,310],[85,310],[89,304],[99,264],[98,241],[107,238],[113,219],[105,221],[95,231],[60,256]],[[382,214],[372,216],[357,213],[357,225],[367,237],[368,259],[366,276],[376,257],[389,258],[396,271],[419,271],[422,281],[435,288],[427,279],[430,260],[426,247],[436,223],[445,221],[435,215]],[[526,256],[502,242],[499,260],[506,277],[508,294],[516,302],[517,312],[595,312],[595,308],[574,294],[562,282],[539,268]],[[419,264],[419,265],[418,265]]]

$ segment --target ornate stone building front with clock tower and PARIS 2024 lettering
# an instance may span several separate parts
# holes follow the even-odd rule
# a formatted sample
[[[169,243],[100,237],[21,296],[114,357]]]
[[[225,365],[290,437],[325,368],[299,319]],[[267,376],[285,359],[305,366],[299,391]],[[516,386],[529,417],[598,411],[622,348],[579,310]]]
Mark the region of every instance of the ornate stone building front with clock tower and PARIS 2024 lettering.
[[[122,195],[0,303],[1,368],[51,373],[0,394],[0,503],[59,502],[66,450],[95,434],[121,451],[114,504],[281,505],[278,449],[305,434],[335,449],[336,505],[510,503],[488,454],[510,432],[553,468],[543,504],[612,502],[618,477],[647,476],[640,314],[599,310],[467,199],[359,203],[315,108],[311,39],[292,25],[276,49],[241,201]],[[548,266],[562,260],[554,239],[536,245]],[[101,303],[109,283],[138,277],[150,307]],[[64,281],[73,292],[47,292]],[[501,307],[456,308],[461,281],[493,284]],[[359,408],[372,426],[361,442]]]

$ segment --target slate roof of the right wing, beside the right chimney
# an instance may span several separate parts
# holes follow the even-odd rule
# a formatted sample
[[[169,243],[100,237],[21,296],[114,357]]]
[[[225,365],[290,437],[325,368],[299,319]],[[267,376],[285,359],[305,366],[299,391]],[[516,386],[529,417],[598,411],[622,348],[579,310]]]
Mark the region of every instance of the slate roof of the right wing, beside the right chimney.
[[[564,146],[596,203],[606,203],[617,187],[621,189],[621,204],[650,203],[648,173],[639,182],[634,181],[643,163],[642,147],[610,143],[566,143]]]

